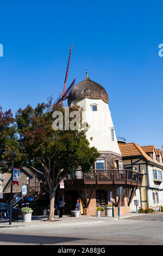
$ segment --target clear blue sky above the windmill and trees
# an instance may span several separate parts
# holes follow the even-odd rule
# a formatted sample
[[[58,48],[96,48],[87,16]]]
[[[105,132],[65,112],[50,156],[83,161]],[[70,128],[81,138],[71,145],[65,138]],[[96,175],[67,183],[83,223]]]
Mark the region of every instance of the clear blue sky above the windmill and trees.
[[[161,1],[3,1],[0,105],[15,114],[62,92],[74,77],[108,93],[116,135],[163,145]]]

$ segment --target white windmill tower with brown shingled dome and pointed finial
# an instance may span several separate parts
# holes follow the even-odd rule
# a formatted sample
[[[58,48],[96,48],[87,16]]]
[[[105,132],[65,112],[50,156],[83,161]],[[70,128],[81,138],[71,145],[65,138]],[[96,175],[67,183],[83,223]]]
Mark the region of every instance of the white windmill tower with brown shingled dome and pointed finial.
[[[112,164],[116,159],[121,159],[116,133],[108,106],[108,94],[98,83],[90,80],[86,70],[85,79],[74,86],[68,95],[68,106],[77,103],[83,107],[83,119],[90,128],[86,132],[91,147],[96,147],[101,155]],[[114,166],[110,168],[114,168]]]

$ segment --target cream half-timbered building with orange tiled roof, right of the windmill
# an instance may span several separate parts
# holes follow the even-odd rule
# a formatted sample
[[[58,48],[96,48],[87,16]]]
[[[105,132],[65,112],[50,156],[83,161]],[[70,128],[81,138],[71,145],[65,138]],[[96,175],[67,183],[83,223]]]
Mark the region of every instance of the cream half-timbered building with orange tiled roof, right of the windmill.
[[[139,200],[143,209],[163,205],[162,151],[154,145],[143,146],[136,143],[119,143],[124,169],[143,173],[141,188],[137,189],[130,204],[130,211],[135,212],[134,200]]]

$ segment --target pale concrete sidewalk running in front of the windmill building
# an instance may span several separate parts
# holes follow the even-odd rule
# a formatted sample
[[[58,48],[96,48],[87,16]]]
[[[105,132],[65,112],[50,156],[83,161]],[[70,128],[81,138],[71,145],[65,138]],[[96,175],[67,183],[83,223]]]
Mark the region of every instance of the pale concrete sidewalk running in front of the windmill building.
[[[120,219],[128,218],[128,217],[134,217],[139,216],[143,214],[128,214],[128,215],[122,215]],[[0,228],[12,228],[12,227],[38,227],[38,226],[53,226],[53,227],[61,227],[61,226],[67,226],[67,225],[85,225],[85,224],[99,224],[104,222],[112,222],[118,220],[118,216],[113,217],[97,217],[97,216],[88,216],[88,215],[82,215],[80,217],[71,217],[70,215],[64,215],[62,218],[59,218],[58,216],[54,216],[55,221],[49,222],[47,221],[48,216],[32,216],[32,222],[23,222],[23,217],[20,217],[19,221],[12,222],[11,225],[9,225],[8,220],[0,220]]]

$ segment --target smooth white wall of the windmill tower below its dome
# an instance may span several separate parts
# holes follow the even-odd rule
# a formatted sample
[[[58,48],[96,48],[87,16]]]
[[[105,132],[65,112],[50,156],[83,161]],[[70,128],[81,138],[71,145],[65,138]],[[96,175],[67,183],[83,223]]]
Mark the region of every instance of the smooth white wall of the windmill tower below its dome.
[[[116,133],[114,130],[114,141],[111,140],[111,129],[114,129],[109,106],[103,100],[82,99],[72,101],[71,104],[77,103],[83,107],[83,123],[86,121],[90,125],[86,133],[91,147],[95,146],[98,151],[112,151],[120,154]],[[97,111],[92,111],[92,105],[97,105]],[[92,140],[90,139],[92,137]]]

